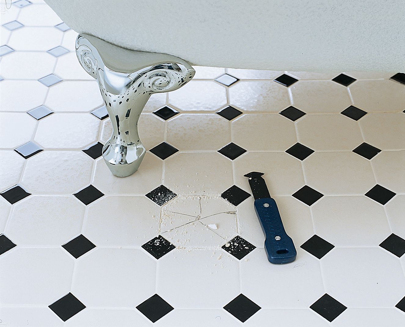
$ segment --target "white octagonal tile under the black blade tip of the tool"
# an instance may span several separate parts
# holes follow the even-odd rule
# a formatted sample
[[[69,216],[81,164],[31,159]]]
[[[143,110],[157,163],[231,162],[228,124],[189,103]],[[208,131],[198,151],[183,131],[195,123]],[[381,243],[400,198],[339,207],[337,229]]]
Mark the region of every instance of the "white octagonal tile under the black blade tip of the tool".
[[[285,152],[250,152],[234,160],[235,184],[249,190],[249,172],[263,172],[270,194],[292,195],[305,185],[301,162]]]

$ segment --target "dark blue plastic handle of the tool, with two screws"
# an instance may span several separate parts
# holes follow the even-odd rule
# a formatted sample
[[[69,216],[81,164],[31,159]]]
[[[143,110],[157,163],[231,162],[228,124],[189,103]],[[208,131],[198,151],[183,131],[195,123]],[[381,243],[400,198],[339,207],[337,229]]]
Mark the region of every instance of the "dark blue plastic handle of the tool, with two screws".
[[[267,206],[268,204],[268,206]],[[254,208],[263,233],[266,236],[264,249],[271,263],[289,263],[295,260],[297,251],[290,236],[287,235],[277,204],[272,198],[257,199]],[[277,237],[278,236],[278,237]]]

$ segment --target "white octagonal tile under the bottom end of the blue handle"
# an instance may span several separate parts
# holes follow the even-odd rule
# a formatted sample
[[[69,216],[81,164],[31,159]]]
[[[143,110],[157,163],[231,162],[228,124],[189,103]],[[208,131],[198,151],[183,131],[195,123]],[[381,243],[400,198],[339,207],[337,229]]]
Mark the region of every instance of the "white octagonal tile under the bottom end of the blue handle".
[[[258,248],[241,260],[241,275],[243,295],[262,308],[308,308],[324,293],[318,259],[301,248],[284,265],[270,263]],[[284,282],[275,282],[280,276]]]

